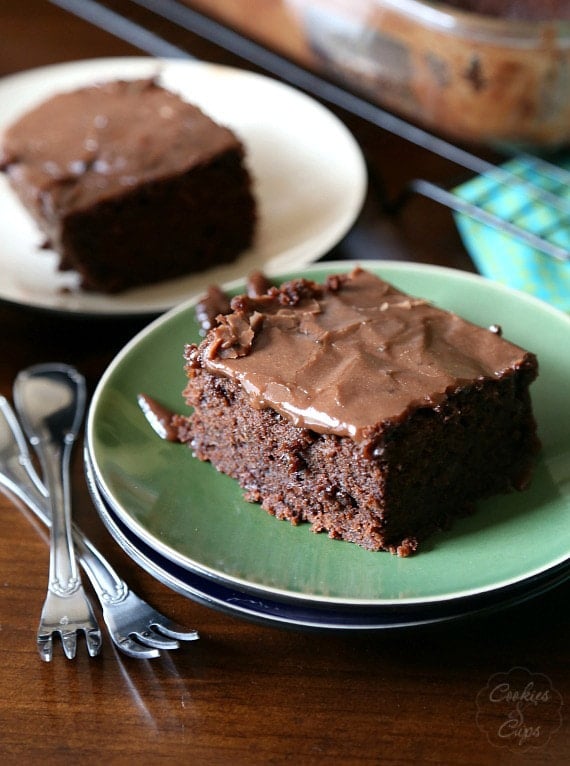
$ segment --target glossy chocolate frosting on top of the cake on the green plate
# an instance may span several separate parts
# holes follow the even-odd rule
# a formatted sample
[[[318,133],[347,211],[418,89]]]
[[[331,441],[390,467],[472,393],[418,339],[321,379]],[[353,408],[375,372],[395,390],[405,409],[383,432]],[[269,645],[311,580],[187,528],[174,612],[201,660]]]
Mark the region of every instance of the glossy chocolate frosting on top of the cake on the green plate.
[[[303,280],[263,297],[239,297],[188,372],[239,381],[256,408],[297,426],[365,439],[384,421],[436,406],[474,380],[500,378],[527,352],[356,269],[326,287]]]

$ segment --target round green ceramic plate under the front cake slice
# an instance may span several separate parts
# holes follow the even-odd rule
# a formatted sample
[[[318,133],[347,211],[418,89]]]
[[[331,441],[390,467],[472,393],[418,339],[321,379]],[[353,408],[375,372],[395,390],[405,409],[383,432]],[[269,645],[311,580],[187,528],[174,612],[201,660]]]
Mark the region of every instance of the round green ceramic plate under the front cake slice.
[[[184,411],[184,344],[198,340],[194,302],[135,337],[100,381],[89,411],[87,451],[100,491],[154,550],[189,571],[313,604],[437,603],[490,593],[566,561],[570,553],[570,318],[481,277],[439,267],[367,262],[396,286],[537,353],[533,401],[543,450],[524,493],[481,503],[476,514],[434,535],[412,557],[371,553],[293,527],[243,500],[237,483],[180,444],[159,439],[137,405],[144,392]],[[303,275],[322,280],[353,264]],[[284,274],[283,278],[298,276]],[[233,285],[238,290],[241,286]]]

